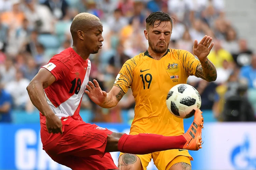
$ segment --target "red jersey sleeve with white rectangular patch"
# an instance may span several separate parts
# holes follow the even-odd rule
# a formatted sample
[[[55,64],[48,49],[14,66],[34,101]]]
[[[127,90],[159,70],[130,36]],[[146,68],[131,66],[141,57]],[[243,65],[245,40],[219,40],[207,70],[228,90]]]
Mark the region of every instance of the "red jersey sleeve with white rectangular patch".
[[[50,71],[56,78],[56,81],[65,78],[66,75],[69,73],[69,67],[67,66],[67,62],[64,64],[54,57],[51,58],[48,64],[42,67]]]

